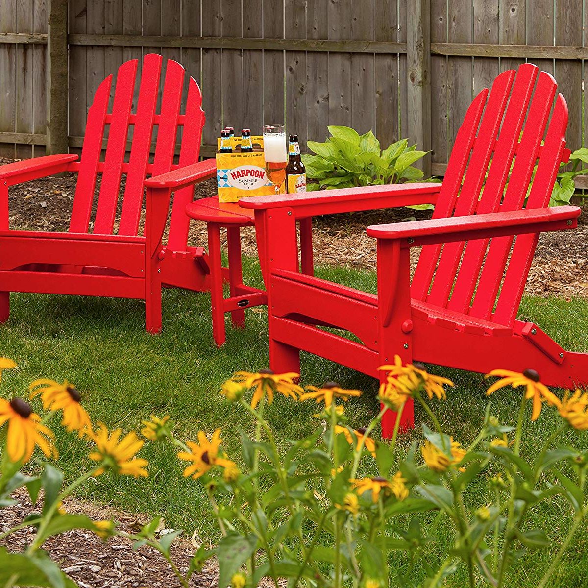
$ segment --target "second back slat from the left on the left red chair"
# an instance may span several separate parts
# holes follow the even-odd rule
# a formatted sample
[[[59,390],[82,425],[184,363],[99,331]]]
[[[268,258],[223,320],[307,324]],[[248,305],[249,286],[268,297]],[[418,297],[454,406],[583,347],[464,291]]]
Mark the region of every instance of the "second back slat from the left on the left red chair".
[[[135,91],[138,60],[132,59],[118,68],[116,89],[112,105],[112,122],[108,132],[108,144],[104,158],[102,184],[98,196],[93,232],[110,235],[116,216],[116,205],[121,187],[122,163],[125,161],[126,138],[129,131],[129,115]]]

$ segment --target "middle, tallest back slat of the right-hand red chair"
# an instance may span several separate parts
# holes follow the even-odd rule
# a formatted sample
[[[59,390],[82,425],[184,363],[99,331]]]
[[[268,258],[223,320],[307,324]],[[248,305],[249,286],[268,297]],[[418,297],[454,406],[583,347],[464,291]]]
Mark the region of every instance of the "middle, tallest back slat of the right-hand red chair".
[[[535,66],[530,64],[520,66],[502,129],[494,148],[482,198],[477,203],[477,214],[496,212],[499,209],[536,77]],[[478,239],[467,243],[451,299],[447,302],[447,308],[450,310],[466,312],[469,308],[488,241],[488,239]]]

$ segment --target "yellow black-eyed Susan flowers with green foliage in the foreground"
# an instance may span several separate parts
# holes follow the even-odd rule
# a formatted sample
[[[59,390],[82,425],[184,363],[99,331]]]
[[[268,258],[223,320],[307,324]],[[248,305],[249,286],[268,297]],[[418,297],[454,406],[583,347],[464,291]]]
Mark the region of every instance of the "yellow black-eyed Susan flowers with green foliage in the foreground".
[[[0,369],[14,365],[0,359]],[[462,447],[435,416],[435,403],[445,400],[450,380],[431,375],[420,364],[405,365],[400,358],[381,369],[386,373],[379,389],[383,409],[359,430],[348,426],[345,410],[359,390],[335,382],[303,389],[295,373],[237,372],[220,393],[250,419],[247,430],[238,432],[240,456],[225,454],[220,429],[200,431],[196,439],[184,442],[167,417],[143,422],[143,439],[135,432],[123,435],[95,425],[83,409],[82,395],[67,381],[36,380],[27,400],[0,399],[0,508],[13,503],[19,488],[28,491],[32,502],[42,502],[39,512],[0,534],[3,539],[25,526],[36,530],[24,552],[0,549],[0,586],[75,586],[43,545],[48,537],[81,528],[105,540],[119,534],[136,546],[152,546],[186,587],[210,557],[218,558],[221,587],[257,586],[269,577],[276,587],[286,579],[289,586],[431,588],[442,586],[459,567],[466,570],[470,586],[503,587],[524,552],[550,549],[553,556],[537,584],[544,588],[588,509],[588,456],[558,445],[566,430],[588,429],[588,393],[576,390],[558,397],[534,370],[495,370],[489,376],[498,379],[488,394],[508,386],[523,392],[516,423],[500,423],[488,407],[479,434]],[[272,402],[316,403],[316,431],[302,439],[276,439],[264,416]],[[424,444],[415,442],[406,452],[396,439],[409,402],[422,406],[433,427],[423,425]],[[41,406],[35,412],[37,403]],[[389,441],[377,442],[372,433],[387,409],[397,411],[394,433]],[[527,418],[539,419],[543,409],[559,413],[560,426],[525,460],[520,455],[523,429]],[[86,467],[66,487],[61,471],[49,461],[57,455],[51,428],[57,419],[88,443]],[[184,574],[170,553],[180,532],[156,537],[158,519],[129,534],[113,520],[93,521],[62,508],[63,500],[89,477],[148,476],[148,463],[138,457],[145,439],[177,448],[184,476],[202,485],[218,522],[218,543],[201,546]],[[22,473],[25,464],[38,475]],[[471,505],[465,498],[480,480],[487,491]],[[547,500],[574,513],[572,526],[557,545],[542,529],[527,524],[530,511]],[[423,526],[427,513],[431,523]],[[427,562],[441,527],[453,530],[453,545],[440,565],[432,566]],[[426,577],[413,573],[417,564]]]

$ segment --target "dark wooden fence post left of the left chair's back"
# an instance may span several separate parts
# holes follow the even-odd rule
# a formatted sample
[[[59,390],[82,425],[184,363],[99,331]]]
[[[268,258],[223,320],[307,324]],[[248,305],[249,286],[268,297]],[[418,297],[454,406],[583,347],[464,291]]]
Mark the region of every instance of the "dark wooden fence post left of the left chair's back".
[[[49,0],[47,153],[68,152],[68,0]]]

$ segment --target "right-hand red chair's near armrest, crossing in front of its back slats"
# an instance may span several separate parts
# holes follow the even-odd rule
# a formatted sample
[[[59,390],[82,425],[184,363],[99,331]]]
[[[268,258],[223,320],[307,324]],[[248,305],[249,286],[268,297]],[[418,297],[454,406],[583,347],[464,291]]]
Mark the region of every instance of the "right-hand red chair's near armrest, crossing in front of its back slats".
[[[430,243],[573,229],[577,226],[576,219],[579,216],[580,208],[577,206],[556,206],[372,225],[368,227],[368,235],[377,239],[402,239],[402,247],[417,247]]]

